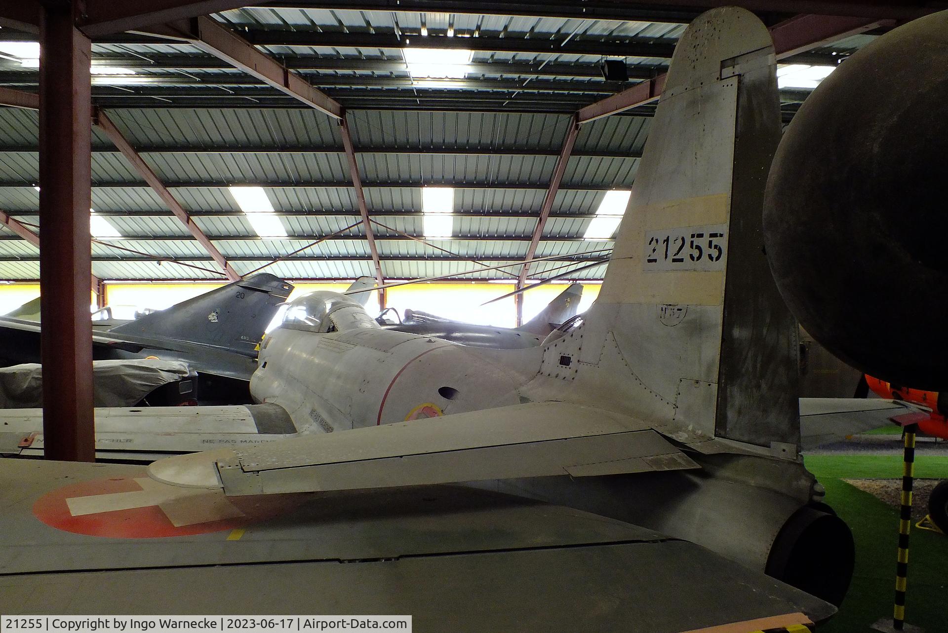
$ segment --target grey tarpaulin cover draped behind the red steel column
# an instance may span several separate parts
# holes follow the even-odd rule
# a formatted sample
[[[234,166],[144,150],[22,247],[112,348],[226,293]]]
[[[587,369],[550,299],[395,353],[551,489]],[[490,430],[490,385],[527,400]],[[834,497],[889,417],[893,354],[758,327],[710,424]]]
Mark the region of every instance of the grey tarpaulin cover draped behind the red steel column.
[[[157,359],[92,362],[96,407],[132,407],[155,388],[187,377],[187,363]],[[43,366],[0,368],[0,407],[43,407]]]

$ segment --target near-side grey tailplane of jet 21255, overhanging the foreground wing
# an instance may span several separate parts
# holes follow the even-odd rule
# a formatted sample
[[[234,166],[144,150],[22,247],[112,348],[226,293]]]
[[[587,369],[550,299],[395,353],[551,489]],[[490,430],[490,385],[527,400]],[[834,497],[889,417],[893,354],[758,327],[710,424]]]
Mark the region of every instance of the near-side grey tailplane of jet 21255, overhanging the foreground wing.
[[[697,467],[645,422],[539,402],[180,456],[149,472],[230,496]]]

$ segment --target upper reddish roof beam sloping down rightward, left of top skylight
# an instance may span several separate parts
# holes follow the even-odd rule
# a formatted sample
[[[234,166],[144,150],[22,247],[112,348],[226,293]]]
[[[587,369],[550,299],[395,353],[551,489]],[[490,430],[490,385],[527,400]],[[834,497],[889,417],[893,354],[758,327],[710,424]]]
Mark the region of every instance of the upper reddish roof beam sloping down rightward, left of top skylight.
[[[244,38],[210,17],[158,27],[155,32],[186,40],[206,53],[240,68],[286,95],[299,99],[333,118],[342,118],[342,106],[282,63],[257,50]]]

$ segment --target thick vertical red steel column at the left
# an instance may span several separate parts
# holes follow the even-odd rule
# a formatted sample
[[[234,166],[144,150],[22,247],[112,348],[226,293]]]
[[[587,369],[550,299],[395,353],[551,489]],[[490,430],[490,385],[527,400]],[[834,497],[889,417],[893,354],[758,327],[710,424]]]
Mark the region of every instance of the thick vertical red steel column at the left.
[[[47,460],[95,461],[92,401],[92,46],[73,3],[40,18],[40,288]]]

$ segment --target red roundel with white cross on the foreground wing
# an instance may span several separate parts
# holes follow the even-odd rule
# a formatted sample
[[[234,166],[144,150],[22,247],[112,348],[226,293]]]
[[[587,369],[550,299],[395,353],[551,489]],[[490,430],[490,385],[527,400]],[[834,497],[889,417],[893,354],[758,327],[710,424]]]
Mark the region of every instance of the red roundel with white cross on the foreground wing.
[[[155,538],[243,528],[282,515],[301,495],[226,497],[217,490],[180,488],[140,474],[57,488],[33,504],[46,525],[92,536]]]

